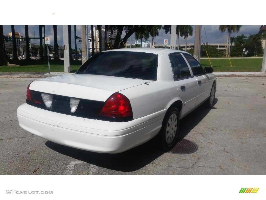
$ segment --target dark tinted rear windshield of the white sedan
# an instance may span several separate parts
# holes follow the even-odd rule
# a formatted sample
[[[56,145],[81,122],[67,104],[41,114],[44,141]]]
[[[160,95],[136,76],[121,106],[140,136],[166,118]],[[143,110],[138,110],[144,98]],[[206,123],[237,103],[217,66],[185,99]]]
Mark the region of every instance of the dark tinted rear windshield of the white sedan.
[[[155,81],[158,55],[142,52],[106,51],[88,59],[76,74],[97,74]]]

